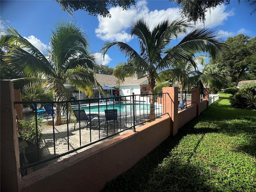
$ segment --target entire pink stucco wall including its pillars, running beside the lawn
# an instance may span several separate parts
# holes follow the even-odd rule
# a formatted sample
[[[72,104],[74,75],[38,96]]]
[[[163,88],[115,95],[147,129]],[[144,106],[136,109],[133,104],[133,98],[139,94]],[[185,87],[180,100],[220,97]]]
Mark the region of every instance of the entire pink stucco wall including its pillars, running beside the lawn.
[[[161,118],[136,128],[136,133],[131,130],[21,177],[13,88],[11,83],[5,85],[2,86],[1,81],[1,191],[100,191],[106,182],[130,169],[207,107],[207,102],[195,101],[192,106],[178,112],[178,88],[165,88],[163,91],[168,94],[163,100],[166,104],[163,112],[167,114]],[[2,96],[2,93],[5,95]]]

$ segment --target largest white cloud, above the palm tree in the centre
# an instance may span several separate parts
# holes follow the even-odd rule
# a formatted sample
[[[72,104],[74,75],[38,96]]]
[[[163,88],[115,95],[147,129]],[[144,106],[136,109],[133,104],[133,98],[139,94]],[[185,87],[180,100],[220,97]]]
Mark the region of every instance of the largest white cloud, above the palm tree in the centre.
[[[132,6],[128,10],[122,10],[120,7],[110,8],[111,18],[98,16],[99,25],[96,28],[96,36],[104,41],[122,41],[131,40],[128,31],[130,21],[135,17],[144,17],[150,21],[151,26],[155,25],[167,16],[177,18],[180,16],[178,8],[168,8],[166,10],[150,11],[145,0],[138,1],[136,7]]]

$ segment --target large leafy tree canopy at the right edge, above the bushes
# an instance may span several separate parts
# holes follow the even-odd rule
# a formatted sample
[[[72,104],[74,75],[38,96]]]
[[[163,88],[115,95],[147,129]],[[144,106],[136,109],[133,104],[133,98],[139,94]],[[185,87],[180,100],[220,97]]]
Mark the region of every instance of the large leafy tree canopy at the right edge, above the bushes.
[[[256,37],[239,34],[228,37],[225,43],[229,51],[220,54],[218,60],[210,60],[210,63],[217,63],[220,74],[228,73],[231,81],[229,86],[236,85],[240,80],[256,79]],[[225,72],[223,73],[223,70]]]

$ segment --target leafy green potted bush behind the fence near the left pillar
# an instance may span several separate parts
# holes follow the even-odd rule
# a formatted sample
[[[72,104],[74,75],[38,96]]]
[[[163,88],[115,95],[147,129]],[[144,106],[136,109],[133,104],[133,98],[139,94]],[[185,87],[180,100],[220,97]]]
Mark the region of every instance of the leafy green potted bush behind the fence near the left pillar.
[[[38,128],[38,138],[42,136],[42,129],[45,127],[46,123],[42,122],[43,119],[40,118],[37,120]],[[36,143],[36,118],[32,117],[30,121],[19,120],[20,130],[18,131],[18,137],[31,142],[32,144]]]

